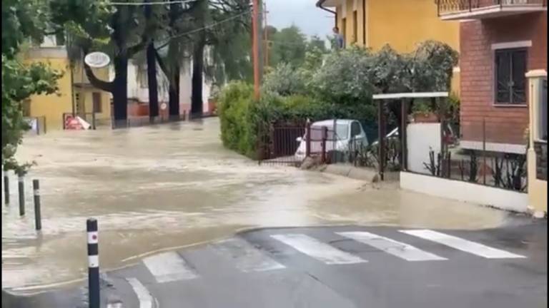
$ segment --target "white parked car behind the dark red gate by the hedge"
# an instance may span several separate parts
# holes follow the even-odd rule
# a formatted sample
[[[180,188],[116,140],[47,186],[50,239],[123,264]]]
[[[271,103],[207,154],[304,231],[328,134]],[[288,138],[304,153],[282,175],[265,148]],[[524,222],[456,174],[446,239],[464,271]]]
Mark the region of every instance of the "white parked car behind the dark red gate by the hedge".
[[[364,128],[362,128],[362,125],[358,120],[322,120],[311,124],[312,154],[320,154],[322,152],[322,127],[327,128],[327,153],[333,150],[345,153],[352,147],[365,147],[369,144]],[[305,150],[307,148],[306,140],[307,133],[305,133],[303,137],[297,138],[297,142],[300,143],[300,146],[295,152],[295,157],[297,159],[305,159]]]

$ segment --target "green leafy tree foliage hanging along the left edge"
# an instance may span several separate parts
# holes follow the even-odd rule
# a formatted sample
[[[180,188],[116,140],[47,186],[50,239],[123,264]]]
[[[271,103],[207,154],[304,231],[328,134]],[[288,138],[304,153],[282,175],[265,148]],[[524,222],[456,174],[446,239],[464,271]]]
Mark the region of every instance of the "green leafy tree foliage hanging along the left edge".
[[[23,173],[28,164],[19,165],[14,155],[23,133],[22,103],[36,94],[51,94],[59,71],[45,63],[25,64],[19,58],[25,41],[41,41],[47,24],[47,5],[37,0],[2,1],[2,158],[6,170]]]

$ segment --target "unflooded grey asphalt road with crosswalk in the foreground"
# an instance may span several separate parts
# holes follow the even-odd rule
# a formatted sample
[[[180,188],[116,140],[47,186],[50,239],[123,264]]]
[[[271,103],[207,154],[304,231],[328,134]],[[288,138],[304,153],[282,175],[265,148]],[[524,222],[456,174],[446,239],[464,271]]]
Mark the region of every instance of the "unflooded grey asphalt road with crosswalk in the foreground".
[[[546,307],[547,225],[252,230],[103,278],[102,307],[111,308]],[[4,294],[2,307],[86,307],[85,299],[84,287]]]

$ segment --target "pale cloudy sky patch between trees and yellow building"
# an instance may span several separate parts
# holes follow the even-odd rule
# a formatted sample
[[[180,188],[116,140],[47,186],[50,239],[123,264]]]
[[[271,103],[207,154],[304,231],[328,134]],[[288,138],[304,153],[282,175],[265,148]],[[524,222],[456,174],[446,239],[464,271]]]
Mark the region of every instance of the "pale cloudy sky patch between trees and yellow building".
[[[322,39],[332,32],[334,17],[318,9],[317,0],[266,0],[267,22],[278,29],[295,24],[307,35]]]

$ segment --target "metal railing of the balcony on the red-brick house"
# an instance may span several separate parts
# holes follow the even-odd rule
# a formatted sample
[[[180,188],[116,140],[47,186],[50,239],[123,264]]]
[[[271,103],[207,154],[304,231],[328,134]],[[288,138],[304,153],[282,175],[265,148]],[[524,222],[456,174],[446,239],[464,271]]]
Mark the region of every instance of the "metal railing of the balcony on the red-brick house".
[[[494,6],[547,6],[547,0],[436,0],[438,16],[444,14],[474,11]]]

